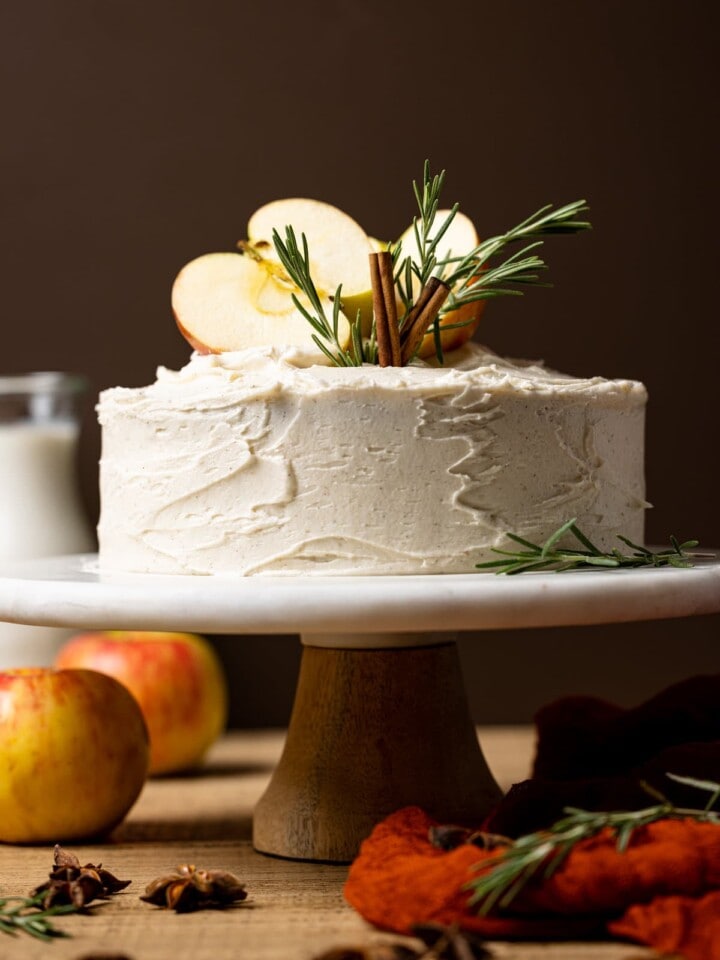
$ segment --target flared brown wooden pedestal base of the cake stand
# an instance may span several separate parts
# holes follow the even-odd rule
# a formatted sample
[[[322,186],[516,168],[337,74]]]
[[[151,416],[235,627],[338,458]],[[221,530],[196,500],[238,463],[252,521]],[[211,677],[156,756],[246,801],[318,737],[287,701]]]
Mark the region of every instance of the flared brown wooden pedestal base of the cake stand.
[[[285,749],[255,808],[257,850],[347,862],[400,807],[473,824],[498,800],[455,643],[374,641],[385,646],[343,648],[339,638],[336,647],[316,647],[304,638]]]

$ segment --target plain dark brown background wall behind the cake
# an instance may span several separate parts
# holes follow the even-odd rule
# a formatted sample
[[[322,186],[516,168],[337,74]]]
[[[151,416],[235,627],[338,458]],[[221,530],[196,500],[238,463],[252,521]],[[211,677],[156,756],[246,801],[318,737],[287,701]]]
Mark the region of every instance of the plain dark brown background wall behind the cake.
[[[717,7],[699,0],[36,0],[0,13],[2,372],[147,383],[189,349],[187,260],[266,200],[335,203],[380,237],[429,157],[481,234],[587,197],[555,283],[492,304],[494,349],[644,380],[651,541],[720,545]],[[99,435],[81,451],[97,511]],[[634,702],[717,669],[719,619],[478,634],[478,720],[563,692]],[[294,638],[219,638],[238,723],[283,722]],[[490,682],[488,682],[490,678]]]

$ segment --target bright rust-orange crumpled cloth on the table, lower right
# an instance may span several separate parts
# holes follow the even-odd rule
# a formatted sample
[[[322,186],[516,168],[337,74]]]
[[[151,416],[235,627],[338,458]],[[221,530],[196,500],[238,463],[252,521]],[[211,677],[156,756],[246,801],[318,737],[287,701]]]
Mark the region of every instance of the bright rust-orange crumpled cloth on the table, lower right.
[[[687,960],[720,960],[720,934],[708,946],[698,927],[720,925],[719,826],[659,821],[636,831],[625,853],[601,833],[579,843],[549,880],[529,884],[512,912],[480,917],[468,906],[465,885],[492,854],[471,845],[448,852],[434,847],[428,839],[433,823],[407,807],[363,843],[345,897],[370,923],[408,933],[415,923],[458,922],[496,939],[611,933],[680,951]]]

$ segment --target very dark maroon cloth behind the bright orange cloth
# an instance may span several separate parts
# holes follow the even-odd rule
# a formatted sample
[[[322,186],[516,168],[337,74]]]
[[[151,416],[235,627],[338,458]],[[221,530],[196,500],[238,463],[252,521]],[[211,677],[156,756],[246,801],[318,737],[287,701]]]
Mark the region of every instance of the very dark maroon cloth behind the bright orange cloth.
[[[704,799],[681,776],[720,782],[720,674],[675,683],[626,709],[597,697],[563,697],[535,716],[532,778],[515,784],[486,829],[517,837],[549,826],[565,807],[637,810],[642,784],[679,807]]]

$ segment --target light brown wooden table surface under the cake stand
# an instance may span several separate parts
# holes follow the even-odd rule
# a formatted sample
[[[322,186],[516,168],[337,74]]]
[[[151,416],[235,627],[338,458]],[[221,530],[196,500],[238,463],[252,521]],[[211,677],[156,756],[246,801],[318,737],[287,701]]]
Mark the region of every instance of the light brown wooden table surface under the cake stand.
[[[501,786],[523,779],[532,755],[529,728],[480,730]],[[388,937],[343,900],[347,868],[299,863],[255,853],[250,843],[255,801],[282,749],[275,731],[233,733],[212,751],[197,776],[148,782],[127,821],[98,845],[69,845],[80,860],[102,863],[131,885],[92,916],[56,925],[71,936],[51,944],[0,933],[0,960],[311,960],[330,947],[360,946]],[[26,895],[47,876],[48,847],[0,845],[0,896]],[[179,863],[222,868],[247,886],[241,906],[175,914],[143,903],[146,884]],[[652,951],[621,943],[493,944],[499,960],[641,960]]]

